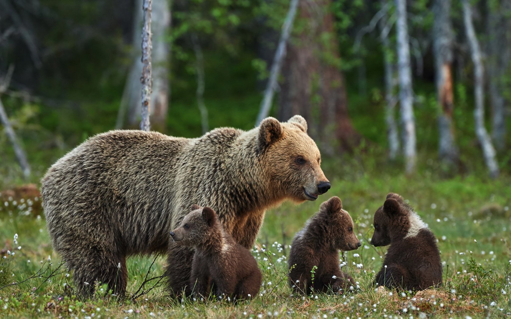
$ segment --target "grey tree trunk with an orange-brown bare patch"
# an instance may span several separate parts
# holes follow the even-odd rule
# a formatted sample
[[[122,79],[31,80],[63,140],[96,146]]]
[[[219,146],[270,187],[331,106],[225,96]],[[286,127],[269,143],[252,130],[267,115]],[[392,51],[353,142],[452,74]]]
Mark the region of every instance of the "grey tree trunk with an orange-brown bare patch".
[[[459,161],[454,141],[452,44],[453,31],[450,18],[451,0],[435,0],[433,13],[433,54],[435,56],[436,94],[440,112],[438,115],[438,155],[451,164]]]

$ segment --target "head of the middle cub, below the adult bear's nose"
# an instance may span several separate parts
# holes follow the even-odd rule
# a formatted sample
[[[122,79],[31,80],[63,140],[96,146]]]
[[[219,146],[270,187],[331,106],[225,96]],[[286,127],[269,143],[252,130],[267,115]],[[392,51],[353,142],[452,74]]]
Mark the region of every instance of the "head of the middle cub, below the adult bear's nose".
[[[353,219],[350,213],[342,209],[342,202],[337,196],[321,203],[319,214],[326,216],[323,224],[328,229],[334,249],[349,251],[361,246],[353,231]]]

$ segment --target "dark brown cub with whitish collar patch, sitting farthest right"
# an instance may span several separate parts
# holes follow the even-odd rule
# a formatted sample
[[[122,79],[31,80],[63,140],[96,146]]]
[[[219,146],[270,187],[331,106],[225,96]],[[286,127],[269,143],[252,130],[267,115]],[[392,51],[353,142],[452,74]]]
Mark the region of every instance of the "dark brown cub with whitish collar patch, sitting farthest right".
[[[390,244],[375,283],[404,290],[442,285],[442,262],[435,235],[400,195],[387,195],[375,213],[373,226],[371,244]]]

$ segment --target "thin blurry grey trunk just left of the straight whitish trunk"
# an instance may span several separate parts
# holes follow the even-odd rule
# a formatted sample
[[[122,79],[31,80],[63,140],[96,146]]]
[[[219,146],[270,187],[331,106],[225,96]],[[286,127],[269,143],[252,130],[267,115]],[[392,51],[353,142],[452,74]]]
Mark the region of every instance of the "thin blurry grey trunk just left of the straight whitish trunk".
[[[382,8],[387,5],[388,0],[382,0]],[[387,28],[387,10],[379,21],[380,23],[380,39],[383,46],[383,64],[385,70],[385,122],[387,124],[387,139],[389,145],[389,158],[396,159],[399,152],[399,135],[398,125],[396,123],[396,99],[394,99],[394,68],[392,64],[390,41],[388,39]]]

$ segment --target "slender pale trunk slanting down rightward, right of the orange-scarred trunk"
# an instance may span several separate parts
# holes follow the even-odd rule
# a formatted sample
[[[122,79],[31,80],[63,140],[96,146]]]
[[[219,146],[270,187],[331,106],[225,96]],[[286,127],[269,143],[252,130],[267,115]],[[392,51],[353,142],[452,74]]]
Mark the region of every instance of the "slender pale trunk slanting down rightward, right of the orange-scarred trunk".
[[[467,39],[470,44],[470,51],[472,62],[474,63],[474,99],[475,99],[475,128],[476,135],[481,144],[482,153],[486,166],[490,170],[490,176],[496,178],[499,175],[499,167],[495,160],[495,149],[493,148],[490,136],[484,127],[484,69],[481,61],[481,50],[479,42],[474,31],[474,24],[472,23],[472,9],[468,0],[462,0],[463,3],[463,21],[465,24],[465,31]]]

